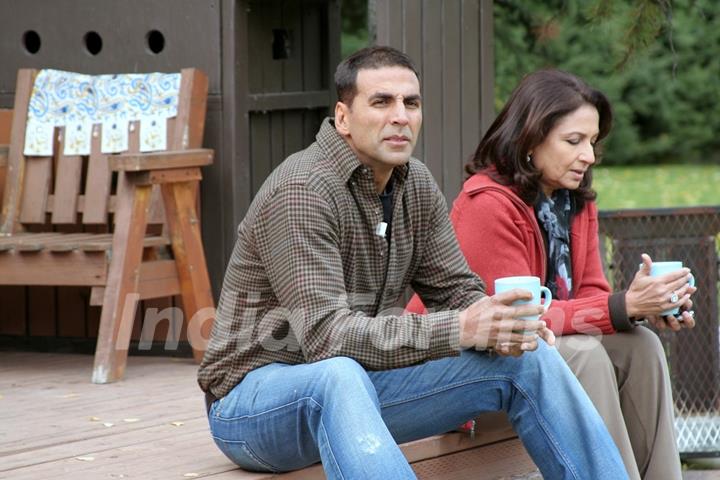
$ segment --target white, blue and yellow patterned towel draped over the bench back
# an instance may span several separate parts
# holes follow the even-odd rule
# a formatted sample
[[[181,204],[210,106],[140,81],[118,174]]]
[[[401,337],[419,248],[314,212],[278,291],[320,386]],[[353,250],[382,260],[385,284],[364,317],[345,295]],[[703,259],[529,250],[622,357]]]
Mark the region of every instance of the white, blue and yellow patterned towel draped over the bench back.
[[[177,115],[179,73],[83,75],[41,70],[35,79],[24,153],[53,154],[53,130],[65,127],[64,155],[89,155],[92,136],[102,153],[128,148],[128,124],[140,122],[140,151],[167,148],[167,119]]]

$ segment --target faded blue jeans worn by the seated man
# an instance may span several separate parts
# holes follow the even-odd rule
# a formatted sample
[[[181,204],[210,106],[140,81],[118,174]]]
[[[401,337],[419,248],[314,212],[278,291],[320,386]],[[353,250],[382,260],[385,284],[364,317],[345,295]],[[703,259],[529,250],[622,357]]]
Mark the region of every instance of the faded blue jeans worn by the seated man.
[[[215,443],[254,471],[322,461],[328,479],[415,478],[398,443],[504,410],[547,479],[627,478],[603,421],[553,348],[366,371],[336,357],[250,372],[210,407]]]

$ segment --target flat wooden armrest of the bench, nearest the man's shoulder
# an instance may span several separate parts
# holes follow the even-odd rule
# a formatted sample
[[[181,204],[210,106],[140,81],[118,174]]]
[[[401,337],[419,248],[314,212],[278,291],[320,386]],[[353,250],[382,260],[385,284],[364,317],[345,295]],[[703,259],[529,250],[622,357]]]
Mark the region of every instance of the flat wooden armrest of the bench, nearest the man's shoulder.
[[[110,168],[124,172],[167,170],[211,165],[214,152],[209,148],[151,153],[122,153],[110,156]]]

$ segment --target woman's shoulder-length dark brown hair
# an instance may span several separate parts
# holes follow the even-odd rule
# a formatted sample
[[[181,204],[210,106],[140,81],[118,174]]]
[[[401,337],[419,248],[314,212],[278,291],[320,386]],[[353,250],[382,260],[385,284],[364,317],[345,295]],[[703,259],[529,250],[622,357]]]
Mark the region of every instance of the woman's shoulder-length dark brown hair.
[[[610,102],[602,92],[561,70],[539,70],[527,75],[485,133],[465,171],[472,175],[490,169],[488,173],[495,181],[513,187],[527,204],[535,203],[541,173],[527,161],[528,152],[545,140],[562,117],[584,104],[597,108],[600,141],[612,126]],[[571,194],[578,209],[595,199],[592,169]]]

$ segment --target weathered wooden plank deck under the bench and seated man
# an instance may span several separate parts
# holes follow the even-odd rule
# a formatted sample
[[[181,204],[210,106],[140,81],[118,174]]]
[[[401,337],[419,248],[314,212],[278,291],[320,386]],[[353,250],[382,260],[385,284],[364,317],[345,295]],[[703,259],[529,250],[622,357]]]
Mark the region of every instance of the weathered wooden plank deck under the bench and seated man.
[[[108,385],[90,383],[91,370],[89,355],[0,351],[0,479],[277,478],[242,472],[215,447],[191,359],[130,357],[126,379]],[[421,479],[540,479],[512,432],[492,430],[403,451]],[[439,451],[449,454],[422,460]],[[319,466],[281,477],[324,478]]]

